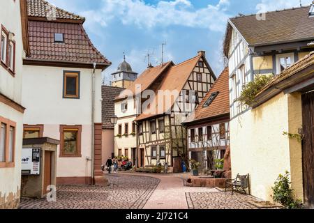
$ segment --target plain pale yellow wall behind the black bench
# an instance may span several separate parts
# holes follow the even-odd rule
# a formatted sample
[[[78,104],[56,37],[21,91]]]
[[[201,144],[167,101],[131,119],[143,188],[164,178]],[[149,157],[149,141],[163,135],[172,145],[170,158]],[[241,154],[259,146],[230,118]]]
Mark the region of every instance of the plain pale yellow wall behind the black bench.
[[[301,128],[300,103],[301,95],[281,93],[230,122],[232,175],[250,174],[255,197],[271,201],[276,178],[290,171],[292,187],[303,199],[301,144],[283,135]]]

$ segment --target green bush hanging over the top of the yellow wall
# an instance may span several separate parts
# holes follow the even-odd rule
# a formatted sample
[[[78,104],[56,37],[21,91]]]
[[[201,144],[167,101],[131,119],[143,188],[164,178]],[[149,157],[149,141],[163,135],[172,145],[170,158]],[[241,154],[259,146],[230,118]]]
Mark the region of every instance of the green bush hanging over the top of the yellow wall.
[[[255,102],[255,97],[266,84],[268,84],[274,75],[256,75],[253,82],[249,82],[246,86],[243,86],[240,97],[237,99],[244,105],[251,107]]]

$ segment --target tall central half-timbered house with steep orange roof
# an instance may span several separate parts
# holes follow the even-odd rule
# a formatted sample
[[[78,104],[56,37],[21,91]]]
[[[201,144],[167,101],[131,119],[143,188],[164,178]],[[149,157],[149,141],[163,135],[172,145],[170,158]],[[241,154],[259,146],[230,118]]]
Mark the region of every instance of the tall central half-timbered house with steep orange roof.
[[[180,171],[180,157],[187,160],[186,129],[181,123],[194,112],[215,80],[205,52],[183,63],[172,64],[156,79],[151,88],[154,95],[135,119],[140,166],[167,162],[170,171]]]

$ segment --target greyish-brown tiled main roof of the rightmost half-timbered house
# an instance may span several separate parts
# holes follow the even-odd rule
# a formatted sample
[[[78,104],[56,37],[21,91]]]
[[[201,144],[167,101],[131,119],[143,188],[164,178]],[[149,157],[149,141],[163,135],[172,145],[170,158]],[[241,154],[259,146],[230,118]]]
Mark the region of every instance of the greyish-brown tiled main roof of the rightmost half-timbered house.
[[[244,37],[248,45],[271,45],[314,39],[314,17],[309,17],[310,6],[290,8],[266,13],[266,20],[256,15],[234,17],[230,22]],[[231,26],[227,26],[224,53],[231,38]]]

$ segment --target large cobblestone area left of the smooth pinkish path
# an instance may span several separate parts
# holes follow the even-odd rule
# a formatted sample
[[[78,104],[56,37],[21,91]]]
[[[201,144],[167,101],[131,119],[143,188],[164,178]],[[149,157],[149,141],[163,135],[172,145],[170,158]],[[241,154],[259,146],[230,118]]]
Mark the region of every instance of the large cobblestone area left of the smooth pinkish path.
[[[147,176],[106,176],[109,187],[61,185],[57,202],[21,199],[21,209],[142,209],[160,180]]]

